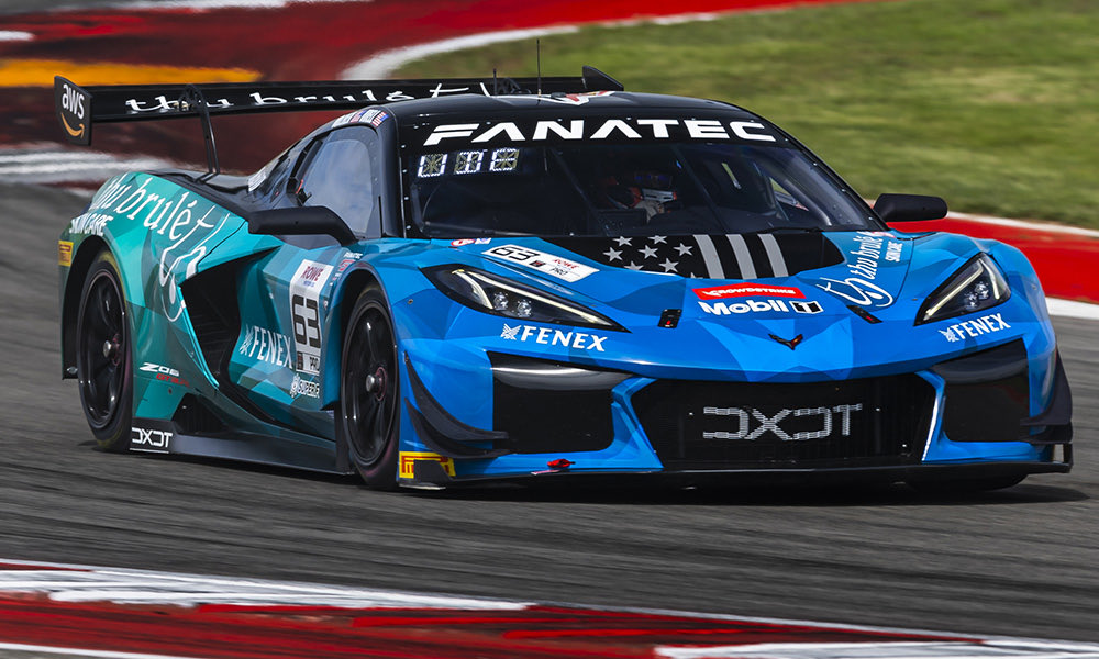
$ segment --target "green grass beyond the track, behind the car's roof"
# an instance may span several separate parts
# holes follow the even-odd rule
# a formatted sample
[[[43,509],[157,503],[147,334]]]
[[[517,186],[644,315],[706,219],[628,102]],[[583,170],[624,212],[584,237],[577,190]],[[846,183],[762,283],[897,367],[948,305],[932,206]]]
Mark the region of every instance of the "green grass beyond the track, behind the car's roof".
[[[1099,2],[897,0],[588,27],[542,40],[543,74],[596,66],[632,91],[775,121],[864,197],[1099,226]],[[533,76],[533,40],[395,77]]]

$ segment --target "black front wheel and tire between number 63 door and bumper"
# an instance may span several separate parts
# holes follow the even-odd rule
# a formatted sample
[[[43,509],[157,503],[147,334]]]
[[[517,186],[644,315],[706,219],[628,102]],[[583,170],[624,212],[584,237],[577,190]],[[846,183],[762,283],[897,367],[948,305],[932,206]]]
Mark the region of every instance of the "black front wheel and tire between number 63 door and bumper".
[[[397,489],[400,370],[397,340],[378,288],[359,293],[344,332],[340,427],[368,488]]]

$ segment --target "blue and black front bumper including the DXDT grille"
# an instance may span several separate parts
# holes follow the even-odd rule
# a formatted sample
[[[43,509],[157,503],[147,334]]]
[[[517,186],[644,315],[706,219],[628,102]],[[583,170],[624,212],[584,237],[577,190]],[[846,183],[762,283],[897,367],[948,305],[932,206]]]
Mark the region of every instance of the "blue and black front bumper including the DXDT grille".
[[[407,356],[404,428],[413,432],[402,432],[401,450],[439,457],[411,459],[402,484],[566,473],[900,481],[1072,468],[1059,356],[1034,359],[1022,339],[910,373],[798,383],[654,379],[488,357],[492,395],[481,418],[491,424],[479,428],[447,412]]]

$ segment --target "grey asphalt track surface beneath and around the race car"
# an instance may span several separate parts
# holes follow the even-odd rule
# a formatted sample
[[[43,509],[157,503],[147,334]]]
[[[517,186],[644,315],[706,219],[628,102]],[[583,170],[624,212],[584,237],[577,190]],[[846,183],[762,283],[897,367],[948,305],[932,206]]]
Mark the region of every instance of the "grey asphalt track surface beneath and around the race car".
[[[1070,474],[874,489],[379,493],[93,448],[60,379],[56,236],[85,201],[0,185],[0,558],[1099,640],[1099,346],[1055,320]]]

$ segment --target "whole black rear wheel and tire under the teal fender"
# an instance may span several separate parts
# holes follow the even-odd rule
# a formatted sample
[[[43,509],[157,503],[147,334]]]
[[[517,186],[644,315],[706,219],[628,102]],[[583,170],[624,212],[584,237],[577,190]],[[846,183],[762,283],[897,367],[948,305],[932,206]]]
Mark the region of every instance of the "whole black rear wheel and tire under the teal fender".
[[[96,256],[80,291],[76,369],[80,405],[99,448],[130,449],[133,351],[130,312],[114,255]]]

